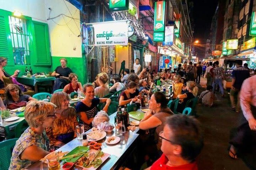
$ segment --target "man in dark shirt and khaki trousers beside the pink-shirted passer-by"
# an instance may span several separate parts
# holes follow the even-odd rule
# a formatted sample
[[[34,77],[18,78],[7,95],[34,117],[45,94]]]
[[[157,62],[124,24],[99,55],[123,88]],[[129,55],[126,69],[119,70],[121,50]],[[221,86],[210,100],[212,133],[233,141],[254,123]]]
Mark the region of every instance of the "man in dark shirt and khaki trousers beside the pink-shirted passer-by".
[[[240,89],[242,83],[245,79],[250,77],[250,71],[244,67],[242,67],[242,60],[235,61],[236,69],[232,72],[232,86],[230,89],[230,102],[231,108],[234,109],[236,112],[240,111],[240,103],[239,103],[239,96],[240,96]],[[235,96],[237,95],[238,101],[235,103]]]

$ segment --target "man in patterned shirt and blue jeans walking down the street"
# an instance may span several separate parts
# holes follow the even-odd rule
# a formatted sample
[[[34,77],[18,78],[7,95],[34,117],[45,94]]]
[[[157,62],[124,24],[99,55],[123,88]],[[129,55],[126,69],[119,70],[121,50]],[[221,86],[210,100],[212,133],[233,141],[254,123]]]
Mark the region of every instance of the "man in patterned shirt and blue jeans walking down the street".
[[[213,93],[215,91],[215,86],[219,85],[222,97],[224,97],[224,89],[222,85],[222,80],[224,78],[224,69],[219,67],[219,61],[215,62],[215,68],[213,69]]]

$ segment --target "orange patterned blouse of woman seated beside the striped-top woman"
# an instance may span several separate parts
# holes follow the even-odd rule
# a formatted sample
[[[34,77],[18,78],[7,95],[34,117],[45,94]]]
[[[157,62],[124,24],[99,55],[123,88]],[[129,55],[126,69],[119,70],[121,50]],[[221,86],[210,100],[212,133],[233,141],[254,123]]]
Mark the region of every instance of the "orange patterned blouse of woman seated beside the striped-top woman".
[[[52,127],[46,128],[50,146],[55,145],[57,141],[68,143],[76,137],[75,127],[78,125],[78,120],[75,108],[69,107],[62,112],[62,115],[68,116],[65,119],[55,118]]]

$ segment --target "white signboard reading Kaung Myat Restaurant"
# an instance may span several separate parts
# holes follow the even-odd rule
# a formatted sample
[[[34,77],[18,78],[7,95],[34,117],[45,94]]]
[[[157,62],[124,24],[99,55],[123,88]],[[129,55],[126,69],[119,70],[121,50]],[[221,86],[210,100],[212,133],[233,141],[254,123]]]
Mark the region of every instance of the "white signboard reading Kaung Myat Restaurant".
[[[127,45],[127,21],[99,22],[94,27],[94,44],[99,45]]]

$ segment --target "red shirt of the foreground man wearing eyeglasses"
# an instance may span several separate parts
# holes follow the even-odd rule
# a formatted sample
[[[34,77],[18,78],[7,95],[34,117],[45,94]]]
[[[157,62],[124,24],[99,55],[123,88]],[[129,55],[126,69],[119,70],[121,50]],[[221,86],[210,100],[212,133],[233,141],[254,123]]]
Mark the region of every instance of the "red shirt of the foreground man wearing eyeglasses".
[[[162,156],[153,163],[150,170],[198,170],[196,162],[180,166],[167,166],[168,161],[168,158],[163,153]]]

